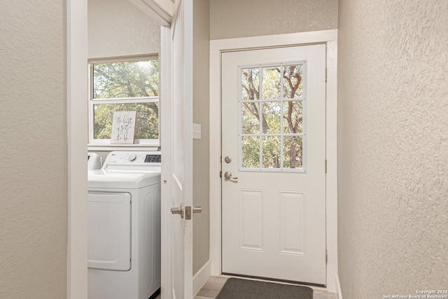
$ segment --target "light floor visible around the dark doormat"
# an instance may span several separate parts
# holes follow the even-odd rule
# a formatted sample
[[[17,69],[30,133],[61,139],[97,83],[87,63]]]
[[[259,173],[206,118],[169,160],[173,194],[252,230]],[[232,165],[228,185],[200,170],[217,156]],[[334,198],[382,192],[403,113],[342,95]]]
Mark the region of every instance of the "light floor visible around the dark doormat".
[[[229,277],[210,277],[206,284],[197,293],[194,299],[214,299]],[[310,286],[313,289],[313,299],[335,299],[335,293],[325,291],[325,288]],[[160,295],[156,299],[160,299]]]

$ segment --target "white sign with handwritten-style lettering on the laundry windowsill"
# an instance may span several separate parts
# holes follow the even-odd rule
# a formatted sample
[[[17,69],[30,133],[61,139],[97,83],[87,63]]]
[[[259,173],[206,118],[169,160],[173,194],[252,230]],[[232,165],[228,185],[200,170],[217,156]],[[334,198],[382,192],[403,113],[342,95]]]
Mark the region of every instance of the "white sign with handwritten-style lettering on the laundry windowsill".
[[[113,113],[111,144],[134,144],[136,114],[137,111]]]

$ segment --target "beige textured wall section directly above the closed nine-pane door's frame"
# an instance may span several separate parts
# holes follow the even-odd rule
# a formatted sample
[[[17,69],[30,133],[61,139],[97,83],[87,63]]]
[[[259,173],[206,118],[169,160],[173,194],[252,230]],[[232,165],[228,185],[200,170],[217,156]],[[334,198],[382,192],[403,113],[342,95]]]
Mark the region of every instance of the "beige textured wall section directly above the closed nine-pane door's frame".
[[[337,0],[210,0],[210,39],[337,28]]]

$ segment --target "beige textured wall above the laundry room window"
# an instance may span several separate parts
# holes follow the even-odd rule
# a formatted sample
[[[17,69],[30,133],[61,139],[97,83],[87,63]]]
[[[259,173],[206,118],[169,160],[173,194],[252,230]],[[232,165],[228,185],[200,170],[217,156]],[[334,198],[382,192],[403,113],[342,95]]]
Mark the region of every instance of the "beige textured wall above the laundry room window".
[[[88,0],[88,57],[153,54],[160,51],[160,25],[130,1]]]

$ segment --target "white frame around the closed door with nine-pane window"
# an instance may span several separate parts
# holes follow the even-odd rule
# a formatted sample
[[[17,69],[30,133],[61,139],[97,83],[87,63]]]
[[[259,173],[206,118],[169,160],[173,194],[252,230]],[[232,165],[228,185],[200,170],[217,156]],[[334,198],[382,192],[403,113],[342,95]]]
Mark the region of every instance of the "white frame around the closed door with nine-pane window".
[[[221,274],[221,53],[251,48],[327,45],[326,90],[326,243],[327,288],[337,275],[337,29],[210,41],[210,259],[211,274]]]

